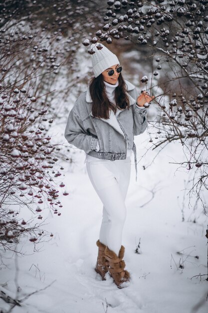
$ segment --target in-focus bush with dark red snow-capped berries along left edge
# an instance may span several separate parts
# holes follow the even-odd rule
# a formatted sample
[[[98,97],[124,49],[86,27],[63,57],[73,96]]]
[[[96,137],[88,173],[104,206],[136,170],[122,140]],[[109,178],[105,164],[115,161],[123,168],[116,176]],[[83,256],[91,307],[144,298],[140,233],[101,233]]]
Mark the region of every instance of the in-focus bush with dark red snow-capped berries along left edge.
[[[51,120],[47,109],[39,108],[37,102],[24,87],[11,90],[1,86],[0,243],[4,249],[24,234],[30,241],[43,237],[44,201],[60,215],[59,190],[53,184],[53,176],[60,175],[55,165],[58,158],[45,126]],[[32,215],[25,212],[26,207]]]

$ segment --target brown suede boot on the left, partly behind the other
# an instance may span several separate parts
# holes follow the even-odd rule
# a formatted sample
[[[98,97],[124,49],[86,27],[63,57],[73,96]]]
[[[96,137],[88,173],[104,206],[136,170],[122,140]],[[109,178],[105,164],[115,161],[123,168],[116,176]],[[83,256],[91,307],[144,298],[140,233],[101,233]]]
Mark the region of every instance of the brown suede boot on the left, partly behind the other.
[[[99,239],[97,240],[96,244],[98,246],[98,257],[95,271],[101,275],[102,280],[106,280],[105,274],[107,273],[109,267],[109,261],[106,260],[104,253],[106,245],[101,243]]]

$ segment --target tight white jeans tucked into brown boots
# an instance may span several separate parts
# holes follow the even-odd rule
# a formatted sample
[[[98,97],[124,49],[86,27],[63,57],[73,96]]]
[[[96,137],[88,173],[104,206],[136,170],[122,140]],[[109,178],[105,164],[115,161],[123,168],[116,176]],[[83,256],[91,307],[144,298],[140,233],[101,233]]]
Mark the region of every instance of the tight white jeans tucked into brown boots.
[[[88,176],[103,203],[99,240],[117,255],[126,219],[125,198],[131,173],[131,156],[120,160],[86,162]]]

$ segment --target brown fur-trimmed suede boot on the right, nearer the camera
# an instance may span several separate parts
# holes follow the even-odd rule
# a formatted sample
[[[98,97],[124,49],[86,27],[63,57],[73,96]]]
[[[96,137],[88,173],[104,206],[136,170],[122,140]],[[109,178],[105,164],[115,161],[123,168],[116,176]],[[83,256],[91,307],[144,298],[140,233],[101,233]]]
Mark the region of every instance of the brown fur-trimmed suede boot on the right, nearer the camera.
[[[123,257],[124,257],[125,247],[121,245],[119,250],[119,255],[114,251],[110,250],[108,246],[105,248],[105,258],[109,261],[109,274],[114,279],[118,288],[123,288],[122,283],[129,281],[130,274],[127,270],[124,269],[126,266]]]

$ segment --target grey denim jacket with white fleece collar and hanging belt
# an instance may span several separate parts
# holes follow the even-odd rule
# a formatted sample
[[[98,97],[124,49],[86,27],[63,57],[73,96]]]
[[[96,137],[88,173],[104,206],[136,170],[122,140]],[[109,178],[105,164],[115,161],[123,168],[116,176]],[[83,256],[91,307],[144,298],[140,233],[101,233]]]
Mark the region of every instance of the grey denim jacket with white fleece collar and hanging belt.
[[[136,87],[125,80],[130,100],[130,108],[121,110],[117,115],[118,123],[111,119],[92,115],[92,98],[87,91],[80,94],[69,112],[64,136],[67,141],[87,154],[114,161],[126,159],[127,149],[134,151],[137,181],[137,156],[134,135],[139,135],[147,128],[147,109],[136,104]],[[96,151],[97,142],[100,149]]]

